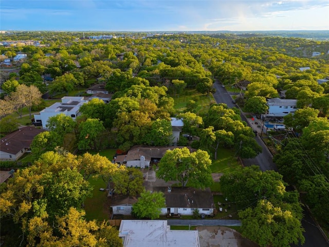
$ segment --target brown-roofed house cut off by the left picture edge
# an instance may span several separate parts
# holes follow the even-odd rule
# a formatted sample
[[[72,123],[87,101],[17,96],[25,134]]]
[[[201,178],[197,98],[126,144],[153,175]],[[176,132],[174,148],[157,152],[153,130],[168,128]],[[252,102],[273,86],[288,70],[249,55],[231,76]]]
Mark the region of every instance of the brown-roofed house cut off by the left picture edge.
[[[1,138],[0,160],[17,161],[24,153],[31,152],[30,146],[34,136],[43,131],[32,126],[26,126]]]

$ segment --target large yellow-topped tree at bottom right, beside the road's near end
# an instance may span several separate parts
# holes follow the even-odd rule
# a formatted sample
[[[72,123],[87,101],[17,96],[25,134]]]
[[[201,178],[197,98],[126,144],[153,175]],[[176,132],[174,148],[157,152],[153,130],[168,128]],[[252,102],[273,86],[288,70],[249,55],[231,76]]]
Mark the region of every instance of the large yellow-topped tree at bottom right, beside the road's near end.
[[[242,235],[262,247],[288,247],[291,243],[304,243],[302,214],[285,204],[275,206],[260,200],[256,207],[240,211]]]

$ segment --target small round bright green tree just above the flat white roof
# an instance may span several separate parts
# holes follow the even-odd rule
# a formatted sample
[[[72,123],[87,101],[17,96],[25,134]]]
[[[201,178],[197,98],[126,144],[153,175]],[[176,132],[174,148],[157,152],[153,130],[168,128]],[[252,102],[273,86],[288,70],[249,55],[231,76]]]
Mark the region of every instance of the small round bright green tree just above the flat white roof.
[[[133,205],[132,213],[138,218],[158,219],[161,208],[166,207],[165,195],[160,191],[145,191],[141,193],[138,201]]]

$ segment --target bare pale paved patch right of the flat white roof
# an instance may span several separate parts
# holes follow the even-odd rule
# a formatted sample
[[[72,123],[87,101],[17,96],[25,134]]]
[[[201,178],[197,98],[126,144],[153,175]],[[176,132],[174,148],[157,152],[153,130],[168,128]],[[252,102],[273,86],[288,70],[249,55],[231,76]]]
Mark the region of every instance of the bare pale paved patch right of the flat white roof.
[[[225,226],[197,226],[200,247],[259,247],[240,233]]]

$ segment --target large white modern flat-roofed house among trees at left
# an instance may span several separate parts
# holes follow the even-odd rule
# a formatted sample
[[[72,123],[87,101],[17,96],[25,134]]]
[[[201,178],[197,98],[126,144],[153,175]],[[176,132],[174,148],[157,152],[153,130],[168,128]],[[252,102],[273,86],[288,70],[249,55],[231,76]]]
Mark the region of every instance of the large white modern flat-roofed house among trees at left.
[[[50,107],[40,111],[40,114],[34,115],[34,121],[42,122],[42,127],[47,128],[47,122],[49,117],[56,116],[57,114],[63,113],[66,116],[70,116],[76,119],[80,115],[79,109],[82,104],[88,102],[84,97],[71,97],[64,96],[62,102],[56,102]]]

